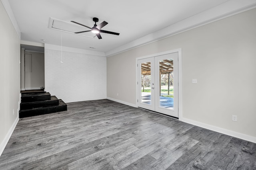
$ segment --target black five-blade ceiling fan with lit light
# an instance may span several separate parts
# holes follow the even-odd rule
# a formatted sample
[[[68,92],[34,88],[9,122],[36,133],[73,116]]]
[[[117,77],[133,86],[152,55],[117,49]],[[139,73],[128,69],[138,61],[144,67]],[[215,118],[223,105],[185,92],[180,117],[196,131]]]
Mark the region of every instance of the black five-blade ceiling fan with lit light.
[[[71,22],[74,22],[76,24],[79,24],[79,25],[82,25],[84,27],[87,27],[87,28],[90,28],[91,30],[88,30],[88,31],[80,31],[80,32],[75,32],[76,34],[77,33],[84,33],[84,32],[89,32],[89,31],[92,31],[92,33],[95,33],[98,37],[98,39],[102,39],[102,37],[100,36],[100,33],[108,33],[108,34],[114,34],[114,35],[119,35],[119,33],[114,33],[114,32],[111,32],[111,31],[105,31],[105,30],[102,30],[101,28],[104,27],[105,25],[107,25],[108,23],[106,21],[103,21],[102,23],[100,23],[99,25],[96,25],[96,22],[99,21],[98,18],[92,18],[92,20],[95,22],[94,26],[91,28],[91,27],[88,27],[86,25],[83,25],[81,23],[78,23],[76,21],[71,21]]]

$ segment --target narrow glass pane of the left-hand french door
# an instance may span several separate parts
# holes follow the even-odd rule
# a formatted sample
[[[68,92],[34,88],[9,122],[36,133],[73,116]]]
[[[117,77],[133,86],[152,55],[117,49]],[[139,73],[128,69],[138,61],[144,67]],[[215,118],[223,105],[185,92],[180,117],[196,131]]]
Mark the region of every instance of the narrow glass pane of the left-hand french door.
[[[151,105],[151,63],[141,63],[141,103]]]

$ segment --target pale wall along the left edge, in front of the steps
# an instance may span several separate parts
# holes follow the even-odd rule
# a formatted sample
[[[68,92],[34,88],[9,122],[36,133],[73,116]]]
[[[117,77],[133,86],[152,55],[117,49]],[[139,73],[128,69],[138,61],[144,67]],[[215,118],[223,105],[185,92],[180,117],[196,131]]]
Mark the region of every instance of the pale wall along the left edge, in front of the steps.
[[[0,155],[16,123],[20,104],[20,38],[0,2]]]

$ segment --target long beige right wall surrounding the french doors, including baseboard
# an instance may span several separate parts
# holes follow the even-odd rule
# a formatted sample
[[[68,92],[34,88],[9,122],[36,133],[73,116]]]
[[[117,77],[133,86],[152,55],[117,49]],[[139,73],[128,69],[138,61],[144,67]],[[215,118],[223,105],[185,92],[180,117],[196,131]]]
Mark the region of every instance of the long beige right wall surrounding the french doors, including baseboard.
[[[256,142],[255,16],[249,10],[108,57],[107,97],[134,105],[136,57],[182,48],[180,120]]]

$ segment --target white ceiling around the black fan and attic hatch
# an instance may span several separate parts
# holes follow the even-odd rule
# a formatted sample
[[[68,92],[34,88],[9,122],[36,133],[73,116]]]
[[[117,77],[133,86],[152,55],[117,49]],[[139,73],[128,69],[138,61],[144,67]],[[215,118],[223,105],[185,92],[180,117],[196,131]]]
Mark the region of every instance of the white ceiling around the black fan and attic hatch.
[[[236,3],[235,7],[231,6],[236,9],[256,3],[255,0],[9,0],[22,41],[61,45],[62,36],[63,46],[108,54],[116,53],[118,48],[123,51],[128,44],[136,43],[138,39],[170,28],[170,25],[192,16],[199,16],[202,12],[219,9],[223,15],[223,9],[227,6],[231,8],[231,2]],[[228,8],[227,12],[234,10]],[[101,33],[102,39],[98,39],[49,28],[50,18],[77,21],[92,27],[93,17],[99,18],[98,24],[108,22],[102,29],[120,35]],[[84,30],[88,28],[84,27]],[[152,37],[157,38],[160,36]]]

